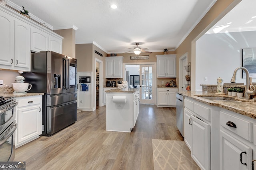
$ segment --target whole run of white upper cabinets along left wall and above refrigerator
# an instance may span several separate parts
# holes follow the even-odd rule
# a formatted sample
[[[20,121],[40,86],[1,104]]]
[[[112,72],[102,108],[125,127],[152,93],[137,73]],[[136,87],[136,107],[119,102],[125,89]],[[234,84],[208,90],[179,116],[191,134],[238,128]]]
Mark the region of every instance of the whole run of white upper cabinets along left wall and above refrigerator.
[[[31,51],[62,53],[63,37],[0,6],[0,69],[30,71]]]

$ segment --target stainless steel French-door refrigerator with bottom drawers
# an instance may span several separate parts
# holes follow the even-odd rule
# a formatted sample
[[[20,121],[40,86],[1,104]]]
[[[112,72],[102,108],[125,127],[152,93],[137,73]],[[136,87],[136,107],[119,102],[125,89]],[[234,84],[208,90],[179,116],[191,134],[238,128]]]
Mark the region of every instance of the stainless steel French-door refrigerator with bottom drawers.
[[[30,93],[44,93],[42,134],[50,136],[76,122],[76,59],[53,51],[31,54],[31,71],[23,73]]]

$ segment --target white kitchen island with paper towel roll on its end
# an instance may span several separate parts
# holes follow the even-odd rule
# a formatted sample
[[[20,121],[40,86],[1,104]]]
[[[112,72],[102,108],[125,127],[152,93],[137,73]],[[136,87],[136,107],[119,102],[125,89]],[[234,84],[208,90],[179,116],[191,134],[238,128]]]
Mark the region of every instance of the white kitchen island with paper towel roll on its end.
[[[139,89],[106,92],[106,130],[131,132],[139,114]]]

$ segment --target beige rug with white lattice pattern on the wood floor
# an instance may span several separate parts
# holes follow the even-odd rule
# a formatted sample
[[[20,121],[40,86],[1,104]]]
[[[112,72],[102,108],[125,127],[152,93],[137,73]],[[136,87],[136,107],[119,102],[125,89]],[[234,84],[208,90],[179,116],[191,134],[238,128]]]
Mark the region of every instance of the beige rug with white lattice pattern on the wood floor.
[[[154,170],[200,170],[181,140],[152,139]]]

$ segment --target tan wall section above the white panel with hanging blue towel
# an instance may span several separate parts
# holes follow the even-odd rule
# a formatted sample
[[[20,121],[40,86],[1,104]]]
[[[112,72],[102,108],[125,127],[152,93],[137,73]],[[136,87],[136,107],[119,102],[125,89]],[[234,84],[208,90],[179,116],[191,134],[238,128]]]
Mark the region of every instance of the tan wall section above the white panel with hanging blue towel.
[[[92,43],[76,44],[77,71],[92,71]]]

